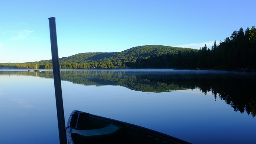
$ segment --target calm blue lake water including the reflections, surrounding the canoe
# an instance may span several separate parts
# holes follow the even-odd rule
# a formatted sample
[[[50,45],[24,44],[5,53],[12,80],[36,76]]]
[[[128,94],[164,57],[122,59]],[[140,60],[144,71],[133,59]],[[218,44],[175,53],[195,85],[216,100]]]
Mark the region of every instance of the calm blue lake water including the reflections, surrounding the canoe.
[[[255,143],[255,73],[61,70],[65,121],[73,110],[187,142]],[[53,72],[0,70],[1,143],[59,143]]]

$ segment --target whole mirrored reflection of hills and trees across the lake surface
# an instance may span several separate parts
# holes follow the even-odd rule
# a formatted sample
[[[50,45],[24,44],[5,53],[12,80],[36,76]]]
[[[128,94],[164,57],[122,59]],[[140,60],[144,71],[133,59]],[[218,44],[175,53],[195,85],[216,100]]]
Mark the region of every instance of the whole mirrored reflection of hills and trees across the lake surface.
[[[250,74],[250,73],[249,73]],[[53,78],[52,71],[0,72],[0,75],[30,75]],[[255,75],[213,71],[143,71],[143,70],[67,70],[61,79],[79,85],[120,85],[134,91],[168,92],[199,88],[203,94],[212,92],[235,111],[256,115]]]

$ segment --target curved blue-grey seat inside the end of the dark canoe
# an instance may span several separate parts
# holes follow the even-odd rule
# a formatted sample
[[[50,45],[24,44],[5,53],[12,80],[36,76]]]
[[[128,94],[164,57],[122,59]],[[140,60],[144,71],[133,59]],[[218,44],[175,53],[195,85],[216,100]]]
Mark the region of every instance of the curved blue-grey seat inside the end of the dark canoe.
[[[82,136],[100,136],[100,135],[107,135],[107,134],[112,134],[122,128],[122,126],[118,126],[115,124],[110,124],[104,128],[101,129],[93,129],[93,130],[75,130],[71,129],[71,133],[77,133]]]

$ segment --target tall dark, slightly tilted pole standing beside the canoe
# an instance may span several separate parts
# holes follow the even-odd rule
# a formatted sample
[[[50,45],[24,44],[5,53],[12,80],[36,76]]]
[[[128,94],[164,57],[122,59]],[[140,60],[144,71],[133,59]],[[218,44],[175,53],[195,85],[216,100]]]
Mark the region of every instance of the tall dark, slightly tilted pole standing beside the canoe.
[[[54,79],[57,118],[58,118],[58,126],[59,126],[59,142],[60,144],[66,144],[67,143],[66,125],[65,125],[62,91],[61,91],[61,83],[60,83],[56,23],[55,23],[55,18],[48,18],[48,19],[49,19],[49,25],[50,25],[50,39],[51,39],[52,62],[53,62],[53,79]]]

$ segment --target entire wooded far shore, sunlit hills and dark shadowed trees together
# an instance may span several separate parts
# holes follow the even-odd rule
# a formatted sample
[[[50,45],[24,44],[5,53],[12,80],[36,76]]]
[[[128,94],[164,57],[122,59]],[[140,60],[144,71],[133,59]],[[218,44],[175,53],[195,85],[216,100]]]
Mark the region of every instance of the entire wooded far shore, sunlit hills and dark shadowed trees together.
[[[115,53],[79,53],[59,58],[61,69],[133,68],[133,69],[256,69],[256,29],[235,30],[223,42],[206,44],[199,50],[172,46],[137,46]],[[52,69],[51,60],[26,63],[0,63],[0,68]]]

